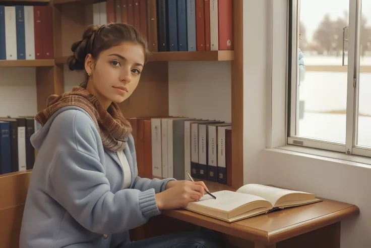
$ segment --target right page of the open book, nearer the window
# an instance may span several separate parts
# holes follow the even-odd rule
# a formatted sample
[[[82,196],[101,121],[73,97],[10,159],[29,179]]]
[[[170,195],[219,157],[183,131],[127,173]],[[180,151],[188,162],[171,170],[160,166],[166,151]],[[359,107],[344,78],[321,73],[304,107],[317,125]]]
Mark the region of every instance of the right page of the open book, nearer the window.
[[[271,187],[271,186],[262,185],[262,184],[254,184],[254,183],[241,186],[239,189],[237,189],[237,192],[261,196],[267,201],[269,201],[273,206],[275,206],[277,200],[279,200],[280,197],[284,195],[289,195],[289,194],[301,194],[301,195],[304,194],[308,196],[313,195],[313,194],[306,193],[306,192],[281,189],[281,188]],[[304,197],[304,198],[311,199],[312,197]],[[303,197],[298,197],[297,199],[293,197],[292,200],[302,200],[302,199]]]

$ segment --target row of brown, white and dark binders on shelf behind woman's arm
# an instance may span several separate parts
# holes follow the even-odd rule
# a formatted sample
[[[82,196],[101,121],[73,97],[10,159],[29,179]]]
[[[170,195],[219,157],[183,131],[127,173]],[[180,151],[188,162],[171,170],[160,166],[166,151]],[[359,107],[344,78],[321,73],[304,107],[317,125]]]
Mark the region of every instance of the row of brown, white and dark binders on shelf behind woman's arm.
[[[231,123],[188,117],[128,118],[141,174],[232,185]]]

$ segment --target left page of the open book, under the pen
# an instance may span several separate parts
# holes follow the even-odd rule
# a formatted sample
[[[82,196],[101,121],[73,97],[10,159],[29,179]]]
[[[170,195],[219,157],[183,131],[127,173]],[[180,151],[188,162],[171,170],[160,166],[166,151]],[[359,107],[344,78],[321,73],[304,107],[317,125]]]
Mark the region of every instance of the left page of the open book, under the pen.
[[[267,202],[267,200],[257,195],[237,193],[228,190],[218,191],[213,193],[213,195],[215,195],[216,199],[205,194],[199,201],[189,203],[187,208],[192,208],[192,205],[201,205],[218,211],[229,212],[240,206],[256,201]]]

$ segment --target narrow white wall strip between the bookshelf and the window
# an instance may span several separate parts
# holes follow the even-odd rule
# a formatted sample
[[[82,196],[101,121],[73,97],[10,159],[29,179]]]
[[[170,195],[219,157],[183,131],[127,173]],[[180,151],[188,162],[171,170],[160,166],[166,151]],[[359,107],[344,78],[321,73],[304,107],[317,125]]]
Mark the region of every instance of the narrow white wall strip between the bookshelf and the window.
[[[266,147],[269,1],[243,0],[243,182],[259,183]]]

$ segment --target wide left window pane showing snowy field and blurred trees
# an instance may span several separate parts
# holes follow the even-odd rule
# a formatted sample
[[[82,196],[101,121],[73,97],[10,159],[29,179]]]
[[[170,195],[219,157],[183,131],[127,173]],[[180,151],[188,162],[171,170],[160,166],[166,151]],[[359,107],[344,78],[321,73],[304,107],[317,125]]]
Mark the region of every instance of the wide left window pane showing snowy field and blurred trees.
[[[299,12],[296,135],[345,143],[349,0],[301,0]]]

